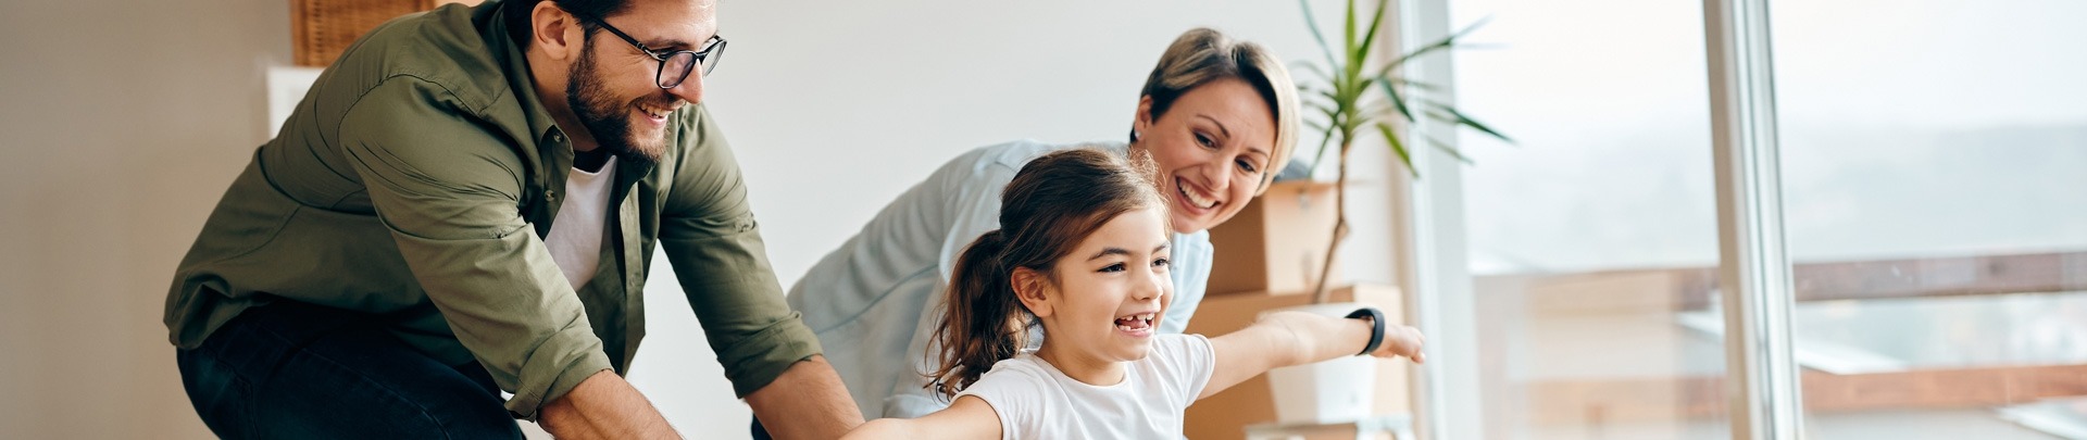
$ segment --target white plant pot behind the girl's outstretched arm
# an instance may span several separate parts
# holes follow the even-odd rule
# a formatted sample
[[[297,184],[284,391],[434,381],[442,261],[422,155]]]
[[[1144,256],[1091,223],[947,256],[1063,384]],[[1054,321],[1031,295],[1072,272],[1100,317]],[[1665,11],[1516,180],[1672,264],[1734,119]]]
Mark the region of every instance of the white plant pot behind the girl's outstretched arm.
[[[1363,304],[1304,304],[1267,313],[1304,311],[1325,317],[1346,317],[1354,309],[1363,309]],[[1371,396],[1377,390],[1377,359],[1340,357],[1323,363],[1271,369],[1269,388],[1275,394],[1277,423],[1357,421],[1369,417]]]

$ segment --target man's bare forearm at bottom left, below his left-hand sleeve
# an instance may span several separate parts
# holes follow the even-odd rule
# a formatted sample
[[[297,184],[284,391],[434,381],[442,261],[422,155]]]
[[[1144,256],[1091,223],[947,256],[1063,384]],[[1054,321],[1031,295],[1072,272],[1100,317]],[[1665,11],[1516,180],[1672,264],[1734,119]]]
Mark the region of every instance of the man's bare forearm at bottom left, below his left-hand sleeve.
[[[543,405],[538,425],[557,438],[680,438],[639,388],[607,369]]]

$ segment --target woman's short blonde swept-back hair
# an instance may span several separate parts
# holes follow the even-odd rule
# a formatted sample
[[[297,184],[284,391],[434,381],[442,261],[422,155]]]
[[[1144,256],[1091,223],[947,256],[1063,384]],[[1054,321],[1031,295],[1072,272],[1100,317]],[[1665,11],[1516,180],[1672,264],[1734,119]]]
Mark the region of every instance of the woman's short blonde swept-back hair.
[[[1290,81],[1290,69],[1267,48],[1252,42],[1233,42],[1208,27],[1183,31],[1181,38],[1175,38],[1167,46],[1160,63],[1152,67],[1152,75],[1146,77],[1146,88],[1140,92],[1140,96],[1152,98],[1152,111],[1146,117],[1158,121],[1181,94],[1217,79],[1246,81],[1254,92],[1261,92],[1261,100],[1269,104],[1269,113],[1275,113],[1275,146],[1269,152],[1269,167],[1261,171],[1261,188],[1254,190],[1258,196],[1269,190],[1275,173],[1290,163],[1300,125],[1298,92],[1296,83]],[[1133,138],[1131,142],[1137,140]]]

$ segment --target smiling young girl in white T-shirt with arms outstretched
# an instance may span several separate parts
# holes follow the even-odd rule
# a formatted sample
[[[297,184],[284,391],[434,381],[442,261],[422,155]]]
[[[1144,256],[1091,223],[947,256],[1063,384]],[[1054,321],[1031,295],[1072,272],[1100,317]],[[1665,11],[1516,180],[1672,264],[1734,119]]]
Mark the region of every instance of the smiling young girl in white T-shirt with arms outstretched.
[[[1181,438],[1190,402],[1286,365],[1348,355],[1421,361],[1413,327],[1271,313],[1204,338],[1158,334],[1173,296],[1167,200],[1119,154],[1031,161],[1002,194],[1002,229],[956,263],[920,419],[874,419],[849,438]],[[1033,352],[1031,325],[1044,342]]]

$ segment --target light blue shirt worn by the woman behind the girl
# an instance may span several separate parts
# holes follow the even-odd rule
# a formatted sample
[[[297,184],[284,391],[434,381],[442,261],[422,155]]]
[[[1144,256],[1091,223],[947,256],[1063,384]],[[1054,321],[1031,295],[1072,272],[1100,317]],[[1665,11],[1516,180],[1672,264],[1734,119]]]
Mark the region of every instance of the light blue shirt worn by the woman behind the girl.
[[[1127,154],[1121,142],[985,146],[935,169],[927,181],[885,204],[854,238],[791,286],[789,304],[818,334],[862,415],[920,417],[943,407],[927,390],[937,361],[929,352],[956,256],[1000,229],[1000,192],[1031,158],[1066,148]],[[1210,279],[1210,234],[1173,234],[1175,298],[1160,332],[1181,334]]]

